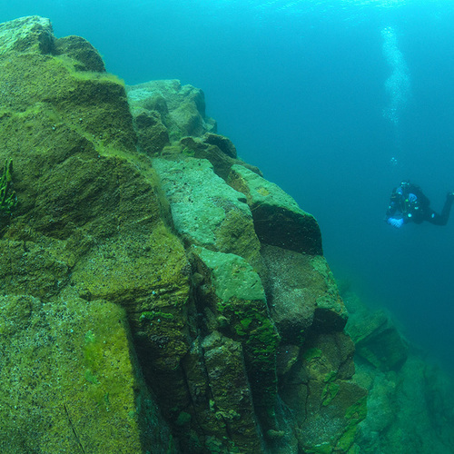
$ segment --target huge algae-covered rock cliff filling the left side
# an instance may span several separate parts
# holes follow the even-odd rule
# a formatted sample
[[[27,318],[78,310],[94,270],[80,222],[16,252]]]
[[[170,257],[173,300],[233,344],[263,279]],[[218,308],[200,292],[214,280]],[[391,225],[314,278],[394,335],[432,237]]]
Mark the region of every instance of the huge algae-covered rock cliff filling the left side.
[[[0,25],[0,84],[0,450],[351,452],[366,391],[318,224],[202,91],[128,104],[37,16]]]

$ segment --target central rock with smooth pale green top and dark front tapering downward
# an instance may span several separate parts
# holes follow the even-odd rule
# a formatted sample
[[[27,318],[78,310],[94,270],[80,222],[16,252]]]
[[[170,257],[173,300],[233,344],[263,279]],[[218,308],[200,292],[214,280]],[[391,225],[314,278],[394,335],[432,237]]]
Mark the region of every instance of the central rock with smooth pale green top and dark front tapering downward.
[[[197,271],[204,277],[200,304],[217,319],[216,329],[242,343],[255,409],[265,428],[274,429],[278,335],[260,277],[237,255],[200,247],[192,252]]]

